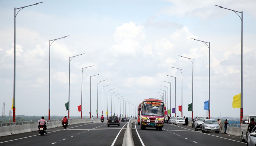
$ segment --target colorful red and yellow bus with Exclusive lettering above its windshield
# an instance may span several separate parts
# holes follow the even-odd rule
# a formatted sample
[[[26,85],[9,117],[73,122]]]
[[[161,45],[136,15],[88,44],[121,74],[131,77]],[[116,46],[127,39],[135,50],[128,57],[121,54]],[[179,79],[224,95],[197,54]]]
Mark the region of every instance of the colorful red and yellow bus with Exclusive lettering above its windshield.
[[[144,99],[140,111],[140,129],[153,127],[162,130],[165,119],[165,104],[159,99]]]

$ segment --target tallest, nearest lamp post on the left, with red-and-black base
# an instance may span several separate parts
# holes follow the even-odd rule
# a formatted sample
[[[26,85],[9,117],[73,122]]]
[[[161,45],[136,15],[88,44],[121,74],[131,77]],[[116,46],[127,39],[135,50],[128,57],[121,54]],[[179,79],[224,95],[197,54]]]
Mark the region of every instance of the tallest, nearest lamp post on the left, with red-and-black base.
[[[40,3],[43,3],[43,2],[40,2]],[[36,3],[36,4],[33,4],[33,5],[37,5],[37,4],[40,4],[40,3]],[[27,5],[27,6],[23,6],[23,7],[20,7],[20,8],[14,8],[14,72],[13,72],[13,120],[12,122],[16,122],[16,119],[15,119],[15,93],[16,93],[16,16],[18,15],[19,11],[22,10],[23,8],[25,7],[29,7],[29,6],[32,6],[32,5]],[[16,14],[16,10],[20,9],[17,14]]]

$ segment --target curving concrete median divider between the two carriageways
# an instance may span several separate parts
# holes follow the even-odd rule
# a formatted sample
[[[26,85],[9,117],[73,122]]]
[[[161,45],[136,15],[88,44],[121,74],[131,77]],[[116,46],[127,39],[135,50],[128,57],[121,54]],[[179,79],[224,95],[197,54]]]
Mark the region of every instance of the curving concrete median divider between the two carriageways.
[[[137,119],[131,119],[127,123],[127,128],[123,136],[122,146],[134,146],[133,134],[132,134],[132,124],[134,121],[137,121]]]

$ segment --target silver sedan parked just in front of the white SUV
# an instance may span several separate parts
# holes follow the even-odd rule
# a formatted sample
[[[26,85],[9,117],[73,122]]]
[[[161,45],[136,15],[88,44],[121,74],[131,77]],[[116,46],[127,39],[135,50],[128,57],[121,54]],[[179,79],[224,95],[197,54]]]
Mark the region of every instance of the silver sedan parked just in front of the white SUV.
[[[205,131],[214,131],[215,133],[220,133],[220,126],[217,120],[214,119],[205,119],[202,123],[202,132]]]

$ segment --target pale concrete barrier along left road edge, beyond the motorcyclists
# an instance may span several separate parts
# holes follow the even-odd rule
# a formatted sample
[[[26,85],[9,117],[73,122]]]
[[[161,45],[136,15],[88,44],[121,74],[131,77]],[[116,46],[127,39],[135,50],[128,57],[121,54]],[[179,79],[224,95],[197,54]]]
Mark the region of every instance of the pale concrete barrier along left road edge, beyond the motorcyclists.
[[[74,124],[80,124],[80,123],[90,123],[91,119],[69,119],[68,125],[74,125]],[[93,122],[100,122],[100,119],[94,119]],[[25,132],[32,132],[38,130],[38,121],[31,121],[33,124],[26,124],[29,122],[17,122],[12,124],[6,124],[9,126],[3,126],[3,124],[0,127],[0,137],[1,136],[7,136],[7,135],[13,135],[13,134],[19,134],[19,133],[25,133]],[[55,128],[55,127],[62,127],[61,120],[49,120],[46,124],[47,129]]]

